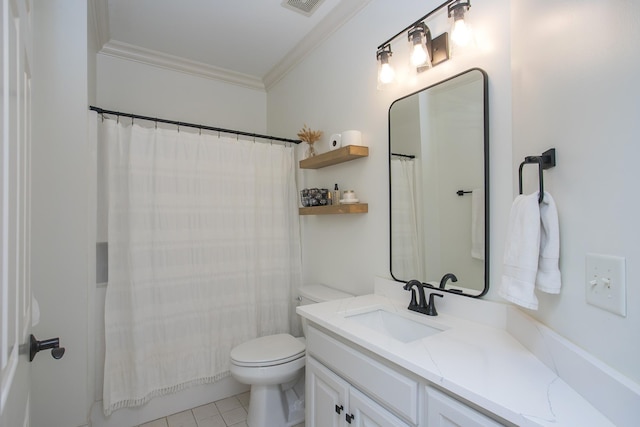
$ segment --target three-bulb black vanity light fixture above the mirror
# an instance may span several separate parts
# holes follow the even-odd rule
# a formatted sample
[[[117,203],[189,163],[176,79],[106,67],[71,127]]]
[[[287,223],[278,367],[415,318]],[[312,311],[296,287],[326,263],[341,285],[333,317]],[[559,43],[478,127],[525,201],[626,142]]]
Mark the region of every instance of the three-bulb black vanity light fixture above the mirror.
[[[410,62],[417,72],[430,69],[449,59],[449,34],[443,33],[432,39],[431,31],[424,21],[434,13],[447,7],[447,15],[453,18],[452,40],[460,46],[473,41],[473,34],[465,20],[465,13],[471,8],[471,0],[447,0],[395,36],[378,46],[376,59],[378,61],[378,89],[393,82],[395,72],[391,66],[391,42],[400,35],[407,33],[409,39]]]

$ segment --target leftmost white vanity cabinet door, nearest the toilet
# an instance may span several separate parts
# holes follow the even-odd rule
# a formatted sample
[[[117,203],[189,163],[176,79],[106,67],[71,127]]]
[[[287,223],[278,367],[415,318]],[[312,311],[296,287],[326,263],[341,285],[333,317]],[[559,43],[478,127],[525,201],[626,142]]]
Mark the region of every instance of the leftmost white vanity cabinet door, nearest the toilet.
[[[305,380],[305,426],[345,426],[349,384],[312,357],[307,357]]]

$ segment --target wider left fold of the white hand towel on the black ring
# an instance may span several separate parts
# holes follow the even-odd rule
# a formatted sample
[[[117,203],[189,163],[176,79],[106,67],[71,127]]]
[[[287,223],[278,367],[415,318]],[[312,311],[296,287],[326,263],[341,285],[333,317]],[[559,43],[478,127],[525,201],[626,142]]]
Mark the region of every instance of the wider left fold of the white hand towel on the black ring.
[[[498,294],[507,301],[538,309],[535,281],[540,253],[538,194],[519,195],[513,201],[504,248],[504,268]]]

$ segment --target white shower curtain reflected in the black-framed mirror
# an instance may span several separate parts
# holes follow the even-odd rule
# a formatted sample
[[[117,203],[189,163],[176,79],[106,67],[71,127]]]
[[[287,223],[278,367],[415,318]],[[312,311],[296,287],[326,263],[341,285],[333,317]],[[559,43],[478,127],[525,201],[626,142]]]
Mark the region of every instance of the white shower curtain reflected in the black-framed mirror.
[[[424,278],[413,159],[391,159],[391,271],[401,280]]]

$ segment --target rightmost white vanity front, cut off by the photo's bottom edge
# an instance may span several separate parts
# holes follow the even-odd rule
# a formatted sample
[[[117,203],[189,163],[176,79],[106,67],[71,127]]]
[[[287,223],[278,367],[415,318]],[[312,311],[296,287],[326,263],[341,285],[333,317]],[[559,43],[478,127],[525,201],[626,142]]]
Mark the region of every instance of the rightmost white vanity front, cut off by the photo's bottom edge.
[[[431,387],[427,387],[427,419],[429,427],[498,427],[502,425]]]

